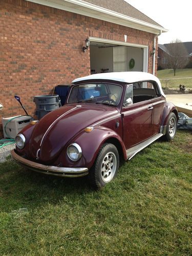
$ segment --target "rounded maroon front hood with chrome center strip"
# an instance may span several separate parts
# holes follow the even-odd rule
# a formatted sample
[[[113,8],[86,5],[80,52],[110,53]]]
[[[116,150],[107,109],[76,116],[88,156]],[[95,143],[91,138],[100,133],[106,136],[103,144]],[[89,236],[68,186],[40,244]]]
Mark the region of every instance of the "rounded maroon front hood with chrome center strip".
[[[62,106],[35,124],[29,145],[30,156],[38,157],[44,162],[51,162],[58,157],[63,146],[77,133],[117,113],[118,110],[113,106],[95,103]]]

